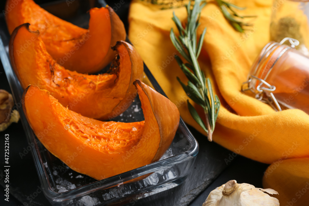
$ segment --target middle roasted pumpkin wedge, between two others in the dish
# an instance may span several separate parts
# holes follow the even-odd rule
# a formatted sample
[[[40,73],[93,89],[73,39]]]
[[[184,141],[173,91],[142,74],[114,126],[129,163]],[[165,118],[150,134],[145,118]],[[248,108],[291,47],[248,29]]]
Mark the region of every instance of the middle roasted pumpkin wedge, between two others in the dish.
[[[137,95],[133,81],[142,78],[143,61],[135,48],[119,41],[113,49],[118,55],[109,73],[88,75],[57,64],[27,23],[14,30],[9,43],[12,67],[24,89],[37,85],[70,110],[100,120],[125,111]]]

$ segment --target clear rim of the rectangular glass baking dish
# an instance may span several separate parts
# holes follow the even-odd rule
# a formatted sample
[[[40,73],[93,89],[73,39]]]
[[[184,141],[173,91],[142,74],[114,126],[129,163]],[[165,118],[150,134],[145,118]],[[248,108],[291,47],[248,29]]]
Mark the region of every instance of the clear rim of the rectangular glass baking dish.
[[[2,18],[4,18],[3,15],[2,15]],[[126,41],[129,42],[128,39]],[[11,88],[14,101],[15,103],[20,103],[22,100],[23,89],[20,86],[15,73],[13,72],[13,69],[11,67],[11,62],[8,57],[8,54],[6,53],[6,49],[2,42],[1,36],[0,36],[0,59],[2,61],[2,65],[3,65],[4,71],[6,73],[6,77],[8,79],[8,82]],[[148,79],[150,80],[153,87],[155,88],[155,90],[161,93],[162,95],[166,96],[166,94],[164,93],[164,91],[162,90],[162,88],[160,87],[159,83],[156,81],[156,79],[154,78],[150,70],[147,68],[145,63],[144,63],[144,72],[146,76],[148,77]],[[144,174],[149,174],[152,172],[156,172],[158,170],[162,170],[164,168],[171,167],[173,165],[176,165],[177,163],[183,162],[187,158],[195,157],[199,149],[196,139],[193,137],[192,133],[190,132],[190,130],[188,129],[188,127],[186,126],[182,118],[180,117],[180,123],[179,123],[178,129],[180,129],[180,131],[183,133],[184,137],[186,137],[187,141],[190,144],[188,150],[178,155],[175,155],[173,157],[150,163],[146,166],[142,166],[142,167],[139,167],[139,168],[136,168],[136,169],[133,169],[133,170],[130,170],[130,171],[106,178],[106,179],[98,180],[93,183],[78,187],[70,191],[58,193],[58,192],[53,191],[51,188],[49,178],[46,175],[46,169],[44,167],[44,162],[40,154],[38,145],[36,143],[36,137],[32,129],[30,128],[30,125],[28,124],[26,120],[26,117],[23,113],[23,109],[21,106],[18,107],[18,111],[20,114],[20,119],[23,125],[25,135],[27,137],[27,141],[29,144],[32,144],[32,143],[34,144],[34,146],[31,147],[32,148],[31,153],[32,153],[32,158],[34,160],[36,170],[37,170],[37,173],[40,179],[40,183],[42,185],[43,192],[46,197],[48,197],[50,200],[53,200],[55,202],[61,202],[63,200],[68,200],[68,198],[71,199],[72,196],[74,196],[74,198],[78,196],[83,196],[83,195],[86,195],[86,194],[89,194],[95,191],[99,191],[102,189],[106,189],[108,187],[115,186],[117,184],[123,183],[128,180],[140,177]],[[95,185],[100,185],[100,186],[95,187]]]

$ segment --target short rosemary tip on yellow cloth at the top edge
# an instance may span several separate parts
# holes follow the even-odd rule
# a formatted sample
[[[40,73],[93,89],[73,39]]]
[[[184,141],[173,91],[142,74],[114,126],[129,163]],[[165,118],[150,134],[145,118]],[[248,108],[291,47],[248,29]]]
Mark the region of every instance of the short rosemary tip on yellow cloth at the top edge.
[[[234,29],[239,32],[244,32],[243,26],[251,25],[249,23],[243,22],[240,19],[244,19],[248,17],[256,17],[256,16],[240,16],[234,10],[234,8],[238,10],[244,10],[246,9],[245,7],[239,7],[239,6],[236,6],[235,4],[228,3],[222,0],[216,0],[216,2],[218,3],[218,6],[220,7],[224,17],[230,22],[232,27],[234,27]]]

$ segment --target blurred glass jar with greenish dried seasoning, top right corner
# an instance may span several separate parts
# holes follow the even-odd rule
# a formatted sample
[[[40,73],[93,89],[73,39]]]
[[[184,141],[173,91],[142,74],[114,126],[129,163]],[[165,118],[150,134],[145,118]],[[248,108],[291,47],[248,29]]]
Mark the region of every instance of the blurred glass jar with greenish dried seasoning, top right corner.
[[[270,23],[270,40],[297,39],[296,49],[309,55],[309,0],[274,0]]]

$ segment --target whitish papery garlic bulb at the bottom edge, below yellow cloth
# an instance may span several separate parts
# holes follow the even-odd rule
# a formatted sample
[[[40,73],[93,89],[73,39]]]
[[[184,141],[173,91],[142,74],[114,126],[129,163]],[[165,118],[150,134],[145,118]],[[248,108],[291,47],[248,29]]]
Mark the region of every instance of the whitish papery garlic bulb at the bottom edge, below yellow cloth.
[[[230,180],[211,191],[203,206],[261,206],[279,205],[277,198],[268,194],[278,194],[273,189],[256,188],[253,185]]]

